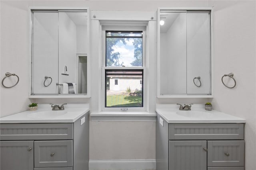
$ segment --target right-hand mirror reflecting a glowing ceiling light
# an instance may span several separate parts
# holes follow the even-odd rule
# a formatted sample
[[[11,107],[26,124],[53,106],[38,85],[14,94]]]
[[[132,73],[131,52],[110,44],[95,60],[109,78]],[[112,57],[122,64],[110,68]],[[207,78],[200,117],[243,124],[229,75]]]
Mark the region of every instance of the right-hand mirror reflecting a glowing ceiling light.
[[[211,95],[210,12],[160,10],[160,96]]]

